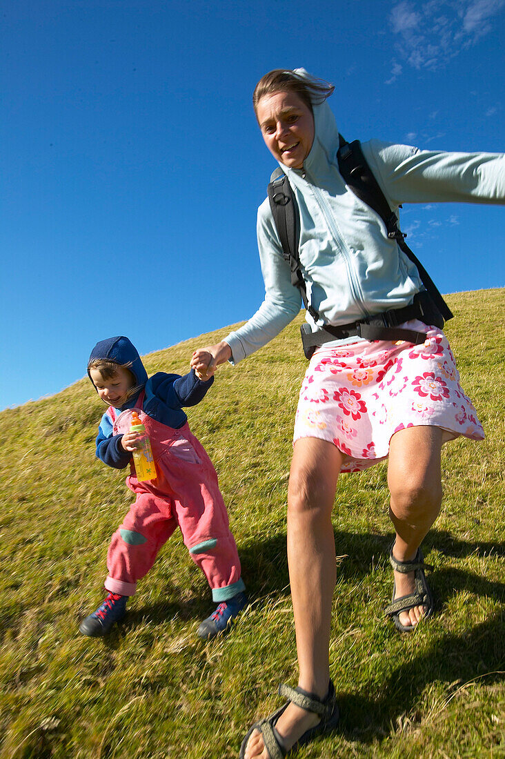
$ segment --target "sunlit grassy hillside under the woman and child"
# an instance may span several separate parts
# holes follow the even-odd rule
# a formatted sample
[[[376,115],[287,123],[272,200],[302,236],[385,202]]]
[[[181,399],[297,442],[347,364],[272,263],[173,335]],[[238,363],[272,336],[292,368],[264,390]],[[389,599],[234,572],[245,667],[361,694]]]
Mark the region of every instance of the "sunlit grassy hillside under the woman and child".
[[[301,759],[505,756],[505,291],[448,301],[456,318],[447,333],[487,438],[444,448],[443,510],[425,541],[437,614],[406,637],[383,618],[393,584],[386,467],[342,476],[331,645],[342,722]],[[185,373],[194,348],[225,334],[150,354],[147,370]],[[195,630],[210,592],[178,534],[125,623],[103,641],[78,634],[131,502],[125,472],[94,458],[105,407],[82,379],[0,414],[2,759],[232,759],[251,722],[279,705],[278,682],[295,685],[286,486],[305,366],[295,323],[236,369],[220,369],[190,410],[252,601],[227,638],[207,644]]]

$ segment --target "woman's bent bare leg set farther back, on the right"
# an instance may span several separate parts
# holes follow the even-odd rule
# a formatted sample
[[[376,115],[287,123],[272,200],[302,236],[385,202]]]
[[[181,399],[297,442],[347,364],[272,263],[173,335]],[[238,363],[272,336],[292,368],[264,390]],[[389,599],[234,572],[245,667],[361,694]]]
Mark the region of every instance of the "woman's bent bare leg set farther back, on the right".
[[[390,518],[396,530],[393,556],[399,561],[415,557],[418,547],[440,512],[440,427],[407,427],[391,438],[387,482]],[[414,572],[395,572],[396,598],[415,591]],[[417,625],[425,612],[415,606],[399,614],[402,625]]]

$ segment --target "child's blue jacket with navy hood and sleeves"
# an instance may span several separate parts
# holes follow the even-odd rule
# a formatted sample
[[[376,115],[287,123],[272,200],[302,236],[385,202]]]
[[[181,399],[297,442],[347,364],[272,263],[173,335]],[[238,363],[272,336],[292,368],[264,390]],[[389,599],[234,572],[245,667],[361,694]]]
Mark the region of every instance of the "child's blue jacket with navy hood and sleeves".
[[[184,376],[157,372],[152,377],[148,377],[137,348],[122,335],[97,342],[91,351],[88,366],[96,358],[114,361],[120,366],[128,364],[128,370],[135,377],[138,392],[128,398],[121,408],[116,409],[118,414],[125,408],[135,408],[140,392],[144,389],[142,408],[146,414],[174,430],[182,427],[188,419],[182,407],[196,406],[200,403],[214,381],[211,377],[206,382],[202,382],[194,370]],[[88,370],[88,376],[93,382],[90,370]],[[116,469],[124,469],[130,462],[131,453],[122,448],[120,444],[122,435],[113,435],[112,432],[112,418],[106,411],[100,421],[96,436],[96,455],[104,464]]]

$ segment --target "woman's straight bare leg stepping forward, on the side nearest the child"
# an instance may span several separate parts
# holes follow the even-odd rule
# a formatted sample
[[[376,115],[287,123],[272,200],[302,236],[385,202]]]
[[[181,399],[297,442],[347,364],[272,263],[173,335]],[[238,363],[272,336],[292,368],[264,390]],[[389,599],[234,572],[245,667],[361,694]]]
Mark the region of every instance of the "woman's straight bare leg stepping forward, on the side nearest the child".
[[[331,512],[342,454],[331,442],[295,442],[288,492],[288,564],[295,616],[298,685],[324,698],[330,680],[330,623],[336,581]],[[276,729],[290,748],[319,718],[289,704]],[[246,759],[267,759],[263,739],[254,731]]]

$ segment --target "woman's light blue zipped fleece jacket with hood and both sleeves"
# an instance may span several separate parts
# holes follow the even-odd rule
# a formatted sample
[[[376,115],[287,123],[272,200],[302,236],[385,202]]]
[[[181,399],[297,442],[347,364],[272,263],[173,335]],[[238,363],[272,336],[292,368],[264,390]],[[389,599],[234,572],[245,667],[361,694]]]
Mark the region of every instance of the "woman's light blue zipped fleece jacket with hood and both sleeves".
[[[297,73],[309,77],[303,69]],[[402,203],[505,203],[501,153],[441,153],[380,140],[362,143],[361,148],[397,217]],[[300,209],[301,270],[309,303],[323,319],[319,326],[338,326],[407,306],[424,289],[415,265],[395,240],[387,238],[377,213],[346,186],[339,173],[338,149],[339,131],[325,101],[314,105],[314,143],[303,169],[279,163]],[[268,199],[258,209],[257,243],[265,299],[244,326],[225,338],[232,364],[276,337],[301,307]],[[308,313],[305,319],[313,331],[317,329]]]

